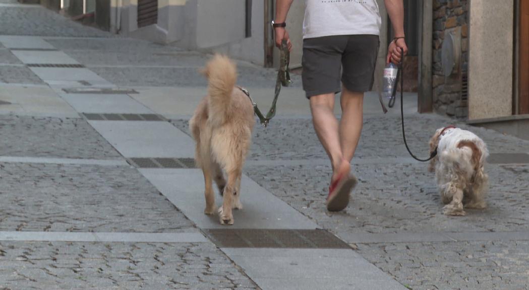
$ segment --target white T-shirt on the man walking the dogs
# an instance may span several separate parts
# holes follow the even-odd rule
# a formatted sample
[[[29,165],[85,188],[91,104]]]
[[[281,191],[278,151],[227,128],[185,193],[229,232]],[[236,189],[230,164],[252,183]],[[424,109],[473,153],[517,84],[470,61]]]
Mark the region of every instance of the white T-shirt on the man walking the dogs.
[[[331,35],[380,35],[376,0],[305,0],[303,39]]]

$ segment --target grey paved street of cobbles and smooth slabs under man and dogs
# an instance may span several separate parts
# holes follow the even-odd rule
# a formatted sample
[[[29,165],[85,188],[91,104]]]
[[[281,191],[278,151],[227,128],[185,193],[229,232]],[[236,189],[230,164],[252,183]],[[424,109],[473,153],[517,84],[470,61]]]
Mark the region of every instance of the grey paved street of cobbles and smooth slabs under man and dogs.
[[[0,25],[0,289],[527,288],[529,142],[456,124],[492,154],[525,155],[495,155],[488,209],[447,217],[434,175],[406,152],[399,102],[383,115],[368,93],[360,184],[330,213],[330,166],[293,76],[277,117],[256,126],[244,209],[221,227],[203,214],[187,128],[209,55],[4,2],[0,15],[22,16]],[[267,110],[275,71],[239,73]],[[406,136],[426,156],[453,120],[415,106],[406,94]]]

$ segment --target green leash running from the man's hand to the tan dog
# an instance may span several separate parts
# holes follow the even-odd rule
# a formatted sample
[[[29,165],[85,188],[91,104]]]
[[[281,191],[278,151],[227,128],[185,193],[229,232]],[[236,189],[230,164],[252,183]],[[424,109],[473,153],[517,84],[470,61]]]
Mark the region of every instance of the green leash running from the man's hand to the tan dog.
[[[276,92],[275,92],[275,96],[273,97],[272,107],[270,108],[270,110],[268,110],[266,117],[265,115],[261,113],[261,110],[259,110],[259,108],[257,107],[257,103],[252,100],[248,90],[245,90],[239,87],[239,89],[242,90],[248,96],[248,98],[250,98],[250,101],[252,102],[252,105],[253,105],[254,113],[259,118],[259,121],[261,122],[261,124],[265,127],[268,126],[273,116],[276,116],[276,103],[277,103],[277,98],[279,97],[279,93],[281,92],[281,86],[288,87],[290,83],[292,83],[292,81],[290,80],[290,73],[288,71],[289,70],[288,65],[290,63],[290,52],[288,51],[286,40],[283,40],[281,42],[280,53],[281,53],[281,58],[279,62],[279,70],[277,71]]]

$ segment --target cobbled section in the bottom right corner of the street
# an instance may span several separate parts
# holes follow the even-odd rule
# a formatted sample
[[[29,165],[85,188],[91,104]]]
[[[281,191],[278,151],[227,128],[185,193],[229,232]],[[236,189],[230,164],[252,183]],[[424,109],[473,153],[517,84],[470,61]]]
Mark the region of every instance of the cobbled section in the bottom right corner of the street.
[[[413,290],[529,286],[528,241],[359,244],[358,252]]]

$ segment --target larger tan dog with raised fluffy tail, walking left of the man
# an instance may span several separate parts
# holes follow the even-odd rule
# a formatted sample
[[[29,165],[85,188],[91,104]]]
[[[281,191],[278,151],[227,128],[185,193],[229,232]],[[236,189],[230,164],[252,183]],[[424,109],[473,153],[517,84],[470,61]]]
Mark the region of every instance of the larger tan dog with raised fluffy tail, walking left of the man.
[[[235,87],[236,67],[229,58],[215,55],[202,73],[208,78],[208,94],[190,119],[189,129],[196,142],[196,165],[204,173],[204,213],[216,212],[212,188],[215,180],[223,196],[223,205],[218,209],[220,222],[233,224],[232,209],[242,209],[242,166],[255,124],[253,106],[248,96]]]

